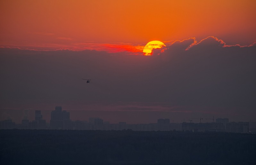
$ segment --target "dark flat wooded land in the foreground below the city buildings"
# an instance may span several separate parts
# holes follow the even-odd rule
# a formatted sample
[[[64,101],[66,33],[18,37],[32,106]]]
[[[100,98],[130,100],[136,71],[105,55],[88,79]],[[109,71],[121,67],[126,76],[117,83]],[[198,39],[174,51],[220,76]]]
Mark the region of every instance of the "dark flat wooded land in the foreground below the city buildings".
[[[255,164],[256,134],[0,130],[0,164]]]

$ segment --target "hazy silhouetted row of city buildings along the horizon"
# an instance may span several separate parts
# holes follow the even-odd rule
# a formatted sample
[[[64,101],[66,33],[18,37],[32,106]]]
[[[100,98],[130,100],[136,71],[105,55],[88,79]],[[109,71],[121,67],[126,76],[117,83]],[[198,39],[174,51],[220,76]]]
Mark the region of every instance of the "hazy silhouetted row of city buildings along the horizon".
[[[134,131],[189,131],[189,132],[232,132],[250,133],[256,132],[255,122],[229,122],[228,118],[217,118],[211,123],[170,123],[168,118],[160,118],[157,123],[150,124],[127,124],[119,122],[111,124],[101,118],[89,118],[88,121],[70,120],[70,112],[62,111],[62,107],[57,106],[51,112],[50,124],[43,120],[41,111],[35,111],[35,120],[23,119],[21,124],[15,124],[12,120],[0,121],[0,129],[67,129],[67,130],[125,130]]]

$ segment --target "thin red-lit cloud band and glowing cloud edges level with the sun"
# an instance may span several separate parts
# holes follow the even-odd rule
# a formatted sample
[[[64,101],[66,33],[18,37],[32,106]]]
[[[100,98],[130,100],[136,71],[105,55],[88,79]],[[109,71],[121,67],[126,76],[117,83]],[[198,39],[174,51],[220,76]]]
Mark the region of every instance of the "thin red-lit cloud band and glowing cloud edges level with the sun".
[[[42,33],[42,32],[36,32],[35,34],[40,35],[54,35],[52,33]],[[58,40],[62,40],[63,42],[69,42],[73,41],[71,38],[66,37],[56,37]],[[177,53],[180,53],[182,50],[189,50],[193,47],[200,47],[203,46],[215,49],[216,46],[218,47],[254,47],[256,45],[255,43],[252,43],[248,46],[240,46],[239,44],[236,45],[227,45],[223,40],[218,39],[213,36],[209,36],[205,39],[202,39],[201,41],[197,41],[195,38],[189,38],[189,39],[183,39],[183,40],[175,40],[175,41],[166,41],[164,44],[168,48],[171,48],[172,51]],[[96,51],[106,51],[108,53],[126,53],[126,54],[134,54],[134,55],[143,55],[143,44],[128,44],[128,43],[81,43],[81,42],[69,42],[69,43],[43,43],[40,45],[33,44],[33,45],[27,45],[27,46],[15,46],[12,47],[6,46],[9,48],[20,48],[20,49],[26,49],[26,50],[45,50],[45,51],[52,51],[52,50],[60,50],[60,49],[68,49],[72,51],[83,51],[83,50],[96,50]],[[2,47],[4,48],[4,47]],[[162,50],[164,49],[164,50]],[[166,48],[154,49],[153,54],[161,54],[163,53]]]

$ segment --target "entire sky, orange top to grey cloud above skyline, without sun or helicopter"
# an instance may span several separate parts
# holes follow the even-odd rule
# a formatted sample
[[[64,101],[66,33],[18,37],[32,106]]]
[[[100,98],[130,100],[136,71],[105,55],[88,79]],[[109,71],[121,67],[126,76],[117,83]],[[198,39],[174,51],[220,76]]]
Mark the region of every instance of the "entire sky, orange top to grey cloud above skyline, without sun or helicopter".
[[[0,117],[62,106],[113,122],[255,120],[255,7],[252,0],[1,1]],[[153,40],[164,51],[143,56]]]

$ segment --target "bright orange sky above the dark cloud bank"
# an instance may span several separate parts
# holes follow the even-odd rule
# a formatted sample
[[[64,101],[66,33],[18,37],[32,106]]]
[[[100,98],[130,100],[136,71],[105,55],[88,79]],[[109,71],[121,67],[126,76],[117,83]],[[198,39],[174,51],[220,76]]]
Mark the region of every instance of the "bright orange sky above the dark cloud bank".
[[[228,45],[256,42],[256,1],[24,0],[0,2],[0,46],[142,51],[208,36]],[[109,47],[108,47],[109,45]]]

